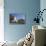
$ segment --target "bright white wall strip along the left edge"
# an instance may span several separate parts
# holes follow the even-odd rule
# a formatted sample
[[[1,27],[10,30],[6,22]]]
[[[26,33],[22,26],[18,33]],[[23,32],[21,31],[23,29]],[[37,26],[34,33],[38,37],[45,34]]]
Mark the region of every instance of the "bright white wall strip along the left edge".
[[[3,0],[0,0],[0,42],[3,41],[4,41],[4,8]]]

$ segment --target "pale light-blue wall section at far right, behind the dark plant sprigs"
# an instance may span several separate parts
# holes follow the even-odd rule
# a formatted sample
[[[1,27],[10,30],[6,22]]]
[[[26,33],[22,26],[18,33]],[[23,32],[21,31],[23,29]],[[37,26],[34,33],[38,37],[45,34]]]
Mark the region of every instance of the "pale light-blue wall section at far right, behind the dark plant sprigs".
[[[41,9],[41,10],[46,9],[46,0],[41,0],[41,1],[40,1],[40,9]],[[46,11],[44,11],[42,17],[43,17],[44,20],[43,20],[43,22],[40,21],[40,25],[46,27]],[[45,35],[45,36],[46,36],[46,35]],[[46,39],[46,38],[45,38],[45,39]],[[45,40],[45,41],[46,41],[46,40]],[[46,43],[46,42],[45,42],[45,43]]]

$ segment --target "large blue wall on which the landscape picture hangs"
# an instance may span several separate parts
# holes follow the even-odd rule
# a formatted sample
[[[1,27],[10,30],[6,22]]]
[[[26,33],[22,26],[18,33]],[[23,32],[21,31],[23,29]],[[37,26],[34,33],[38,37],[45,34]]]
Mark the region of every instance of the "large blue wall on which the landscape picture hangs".
[[[35,12],[40,10],[40,0],[4,0],[4,35],[5,40],[18,41],[24,37],[31,29]],[[11,25],[9,14],[22,12],[26,16],[26,24]]]

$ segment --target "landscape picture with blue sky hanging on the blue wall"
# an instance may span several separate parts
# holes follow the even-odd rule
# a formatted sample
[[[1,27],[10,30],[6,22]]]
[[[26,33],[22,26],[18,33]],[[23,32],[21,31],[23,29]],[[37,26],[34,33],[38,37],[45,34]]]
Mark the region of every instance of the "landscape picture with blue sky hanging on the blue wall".
[[[25,24],[25,15],[20,13],[10,13],[10,24]]]

